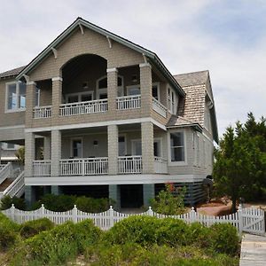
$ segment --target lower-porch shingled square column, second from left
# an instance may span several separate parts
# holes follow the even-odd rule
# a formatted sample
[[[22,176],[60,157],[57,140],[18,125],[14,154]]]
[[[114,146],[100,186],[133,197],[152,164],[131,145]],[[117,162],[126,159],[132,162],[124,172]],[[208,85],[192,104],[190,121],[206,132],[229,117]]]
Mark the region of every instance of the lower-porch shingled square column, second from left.
[[[51,130],[51,176],[60,176],[61,131]]]

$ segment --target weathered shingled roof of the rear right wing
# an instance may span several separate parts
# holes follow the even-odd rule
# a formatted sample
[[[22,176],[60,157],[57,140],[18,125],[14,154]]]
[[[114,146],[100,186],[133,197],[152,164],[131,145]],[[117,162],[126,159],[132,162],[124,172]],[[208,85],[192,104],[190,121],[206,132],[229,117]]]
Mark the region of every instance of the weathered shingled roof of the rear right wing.
[[[215,102],[212,97],[211,84],[208,70],[174,75],[176,81],[182,86],[186,93],[183,101],[178,106],[177,115],[184,117],[188,121],[198,123],[204,127],[205,98],[212,102],[210,109],[212,131],[215,142],[218,144],[218,129],[215,114]],[[210,94],[207,92],[207,84],[210,86]]]

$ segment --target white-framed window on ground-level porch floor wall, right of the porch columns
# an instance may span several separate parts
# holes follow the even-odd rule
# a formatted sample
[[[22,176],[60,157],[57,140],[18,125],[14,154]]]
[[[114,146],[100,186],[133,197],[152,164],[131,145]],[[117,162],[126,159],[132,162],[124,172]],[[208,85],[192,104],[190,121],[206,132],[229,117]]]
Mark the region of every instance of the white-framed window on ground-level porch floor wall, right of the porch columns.
[[[171,161],[184,161],[184,132],[170,133]]]

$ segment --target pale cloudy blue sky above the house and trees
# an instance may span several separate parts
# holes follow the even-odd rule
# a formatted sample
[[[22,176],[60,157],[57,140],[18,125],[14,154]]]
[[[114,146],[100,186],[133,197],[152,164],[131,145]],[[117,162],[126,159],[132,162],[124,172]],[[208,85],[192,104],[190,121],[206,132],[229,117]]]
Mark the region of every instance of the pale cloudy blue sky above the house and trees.
[[[208,69],[220,136],[266,116],[264,0],[1,1],[0,72],[24,66],[77,17],[155,51],[172,74]]]

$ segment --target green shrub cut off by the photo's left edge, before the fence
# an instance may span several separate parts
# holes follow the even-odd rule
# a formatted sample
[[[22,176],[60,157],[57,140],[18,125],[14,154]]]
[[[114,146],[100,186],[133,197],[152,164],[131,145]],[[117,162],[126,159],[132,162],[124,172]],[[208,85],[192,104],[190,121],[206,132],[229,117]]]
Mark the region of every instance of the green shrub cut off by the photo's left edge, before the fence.
[[[19,225],[0,213],[0,250],[14,246],[19,239]]]

